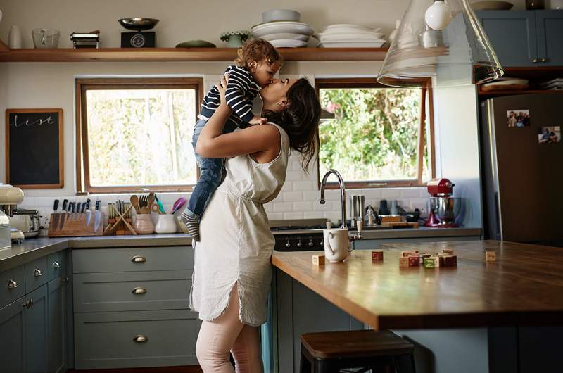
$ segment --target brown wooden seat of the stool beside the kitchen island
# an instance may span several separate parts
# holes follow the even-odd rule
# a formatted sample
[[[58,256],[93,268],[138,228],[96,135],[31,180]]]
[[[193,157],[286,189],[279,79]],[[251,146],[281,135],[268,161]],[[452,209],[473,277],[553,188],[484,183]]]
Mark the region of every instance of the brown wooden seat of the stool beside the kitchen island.
[[[313,358],[355,358],[358,356],[405,355],[414,346],[392,331],[353,330],[309,333],[301,343]]]

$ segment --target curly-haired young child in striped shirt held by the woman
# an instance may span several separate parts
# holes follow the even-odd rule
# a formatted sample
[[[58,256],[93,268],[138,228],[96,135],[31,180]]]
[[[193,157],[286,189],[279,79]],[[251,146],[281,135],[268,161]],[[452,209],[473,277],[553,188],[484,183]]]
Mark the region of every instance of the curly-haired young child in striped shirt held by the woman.
[[[236,65],[229,66],[225,74],[229,74],[225,98],[227,105],[232,108],[232,114],[224,125],[224,133],[233,132],[237,127],[260,125],[265,118],[253,115],[253,101],[258,95],[258,89],[269,84],[281,65],[281,56],[269,42],[263,39],[253,39],[238,51]],[[259,86],[259,87],[258,87]],[[211,115],[219,107],[220,95],[217,87],[213,87],[203,99],[198,120],[194,126],[192,146],[194,150],[201,129],[208,122]],[[191,193],[189,203],[182,213],[182,221],[186,225],[192,238],[199,241],[199,220],[213,191],[219,187],[222,178],[224,160],[222,158],[202,158],[196,153],[196,161],[200,169],[200,177]]]

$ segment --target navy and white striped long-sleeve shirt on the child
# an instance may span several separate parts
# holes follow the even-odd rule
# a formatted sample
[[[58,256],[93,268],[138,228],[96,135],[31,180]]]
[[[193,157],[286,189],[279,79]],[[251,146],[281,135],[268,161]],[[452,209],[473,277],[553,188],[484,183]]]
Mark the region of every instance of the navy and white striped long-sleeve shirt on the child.
[[[254,82],[251,73],[244,68],[229,66],[224,72],[229,74],[225,99],[227,99],[227,105],[233,110],[229,120],[240,126],[241,122],[248,122],[254,116],[252,106],[258,95],[258,85]],[[217,87],[213,87],[201,103],[198,118],[205,120],[211,118],[220,103],[219,91]]]

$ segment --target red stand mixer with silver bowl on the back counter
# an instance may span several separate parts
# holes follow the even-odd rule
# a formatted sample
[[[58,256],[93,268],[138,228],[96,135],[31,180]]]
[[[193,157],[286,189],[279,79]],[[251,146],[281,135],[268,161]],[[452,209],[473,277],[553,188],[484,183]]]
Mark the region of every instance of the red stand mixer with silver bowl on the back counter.
[[[460,214],[461,198],[452,197],[455,184],[450,180],[431,179],[426,187],[429,198],[429,216],[424,227],[453,228],[459,227],[455,218]]]

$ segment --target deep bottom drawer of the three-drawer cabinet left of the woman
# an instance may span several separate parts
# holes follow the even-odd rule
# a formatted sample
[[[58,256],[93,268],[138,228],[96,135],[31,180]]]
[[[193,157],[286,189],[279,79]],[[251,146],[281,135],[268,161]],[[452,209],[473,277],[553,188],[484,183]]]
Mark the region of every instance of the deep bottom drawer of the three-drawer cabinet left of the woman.
[[[76,369],[197,365],[200,325],[188,310],[77,313]]]

